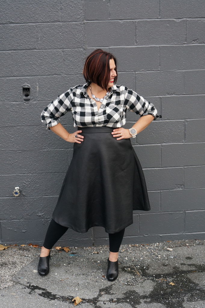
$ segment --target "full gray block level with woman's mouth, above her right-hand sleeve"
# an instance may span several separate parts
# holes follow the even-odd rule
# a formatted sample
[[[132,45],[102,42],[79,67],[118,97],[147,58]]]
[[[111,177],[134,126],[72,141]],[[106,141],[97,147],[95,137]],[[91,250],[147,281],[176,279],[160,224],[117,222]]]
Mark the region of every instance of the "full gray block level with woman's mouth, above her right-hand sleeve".
[[[184,94],[184,72],[137,72],[136,89],[141,96]]]

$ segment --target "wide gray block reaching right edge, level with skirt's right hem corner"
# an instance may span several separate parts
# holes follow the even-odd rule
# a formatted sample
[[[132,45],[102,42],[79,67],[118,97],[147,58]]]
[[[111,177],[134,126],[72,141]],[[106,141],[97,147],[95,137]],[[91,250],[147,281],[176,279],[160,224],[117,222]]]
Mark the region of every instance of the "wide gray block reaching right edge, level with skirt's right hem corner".
[[[161,192],[161,211],[204,209],[205,188],[164,190]]]

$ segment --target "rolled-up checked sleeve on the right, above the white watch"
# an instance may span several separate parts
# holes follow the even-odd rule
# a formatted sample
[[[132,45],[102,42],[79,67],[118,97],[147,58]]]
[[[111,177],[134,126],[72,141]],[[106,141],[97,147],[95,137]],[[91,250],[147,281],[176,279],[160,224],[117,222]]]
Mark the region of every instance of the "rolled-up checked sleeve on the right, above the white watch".
[[[156,107],[148,100],[137,94],[137,92],[125,87],[125,105],[129,111],[143,115],[153,115],[154,120],[156,118],[162,118],[162,115],[158,115]]]

